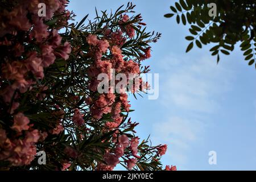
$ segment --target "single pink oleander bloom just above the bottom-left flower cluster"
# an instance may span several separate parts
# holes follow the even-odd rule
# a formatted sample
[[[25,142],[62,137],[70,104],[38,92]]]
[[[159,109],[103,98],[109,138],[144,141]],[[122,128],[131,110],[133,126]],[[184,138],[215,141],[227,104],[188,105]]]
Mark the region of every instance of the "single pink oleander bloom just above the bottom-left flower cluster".
[[[22,113],[18,113],[14,115],[14,125],[11,127],[11,129],[17,132],[28,130],[30,128],[30,126],[28,126],[28,123],[30,123],[30,119],[28,119]]]

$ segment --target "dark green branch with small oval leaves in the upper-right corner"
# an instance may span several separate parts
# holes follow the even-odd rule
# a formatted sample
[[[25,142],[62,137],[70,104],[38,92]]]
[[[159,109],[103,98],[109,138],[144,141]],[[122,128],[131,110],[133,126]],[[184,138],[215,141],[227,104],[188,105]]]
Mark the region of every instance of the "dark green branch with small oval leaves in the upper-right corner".
[[[217,5],[217,16],[209,16],[212,7],[209,3]],[[240,43],[245,60],[256,68],[256,7],[255,1],[241,0],[179,0],[170,7],[171,13],[166,18],[175,17],[177,23],[190,24],[189,32],[192,35],[185,39],[191,41],[187,51],[203,45],[215,43],[210,49],[213,56],[220,60],[220,53],[229,55],[234,45]]]

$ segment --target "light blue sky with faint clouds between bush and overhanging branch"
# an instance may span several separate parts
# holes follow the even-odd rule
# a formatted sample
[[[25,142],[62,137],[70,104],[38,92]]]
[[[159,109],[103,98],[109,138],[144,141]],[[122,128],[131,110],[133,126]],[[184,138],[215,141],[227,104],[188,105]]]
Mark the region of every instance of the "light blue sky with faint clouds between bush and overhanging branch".
[[[115,11],[127,2],[72,0],[69,10],[76,20],[86,14],[93,19],[95,7]],[[256,170],[256,72],[239,47],[222,55],[218,65],[209,52],[212,45],[185,53],[188,27],[163,17],[174,1],[133,3],[147,30],[162,32],[145,61],[151,73],[159,73],[159,98],[130,97],[139,137],[150,134],[152,143],[168,144],[162,162],[178,170]],[[209,165],[209,151],[217,152],[216,165]]]

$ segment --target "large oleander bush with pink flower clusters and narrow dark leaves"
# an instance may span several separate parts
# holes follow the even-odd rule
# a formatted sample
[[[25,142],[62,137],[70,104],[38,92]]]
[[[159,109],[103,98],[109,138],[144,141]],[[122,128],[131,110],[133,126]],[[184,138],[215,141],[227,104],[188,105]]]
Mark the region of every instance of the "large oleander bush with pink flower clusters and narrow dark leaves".
[[[46,15],[39,16],[39,3]],[[167,146],[137,137],[129,94],[150,89],[141,74],[160,34],[145,32],[129,3],[74,23],[65,0],[0,1],[0,169],[162,170]],[[139,85],[99,93],[105,73]],[[130,89],[130,93],[127,89]],[[37,152],[46,153],[39,164]],[[176,167],[166,166],[173,171]]]

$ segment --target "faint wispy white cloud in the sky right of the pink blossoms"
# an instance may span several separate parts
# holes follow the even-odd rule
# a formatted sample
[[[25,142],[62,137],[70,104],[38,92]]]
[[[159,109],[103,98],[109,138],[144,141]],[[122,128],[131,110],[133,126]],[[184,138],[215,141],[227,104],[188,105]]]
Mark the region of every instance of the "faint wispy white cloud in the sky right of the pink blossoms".
[[[172,162],[184,165],[192,144],[203,138],[210,114],[221,108],[232,74],[204,56],[179,60],[170,55],[160,65],[166,69],[160,74],[160,103],[172,112],[153,126],[153,137],[169,145],[167,157]]]

